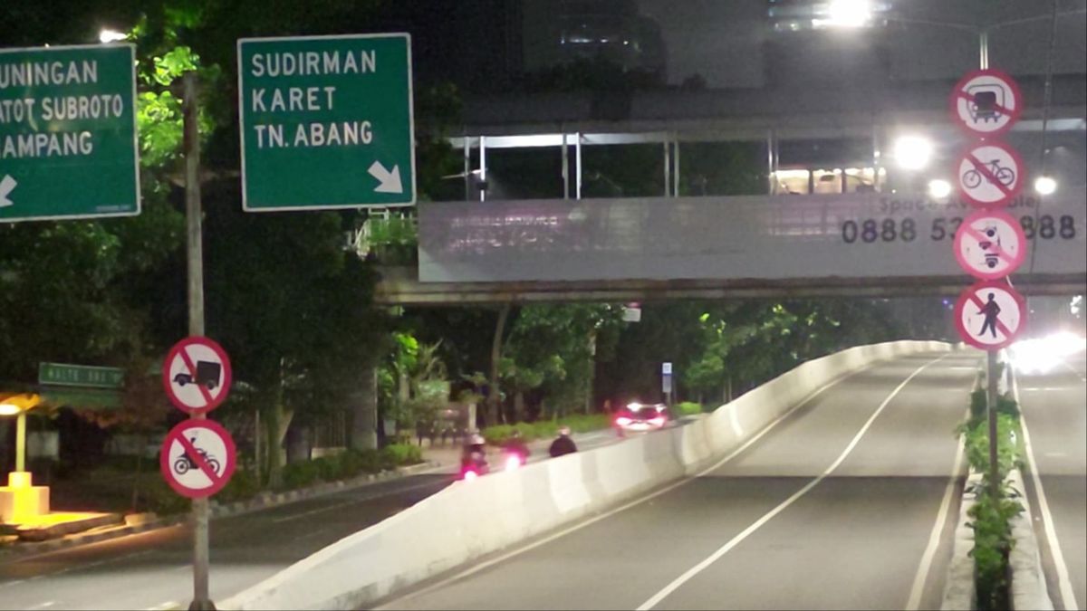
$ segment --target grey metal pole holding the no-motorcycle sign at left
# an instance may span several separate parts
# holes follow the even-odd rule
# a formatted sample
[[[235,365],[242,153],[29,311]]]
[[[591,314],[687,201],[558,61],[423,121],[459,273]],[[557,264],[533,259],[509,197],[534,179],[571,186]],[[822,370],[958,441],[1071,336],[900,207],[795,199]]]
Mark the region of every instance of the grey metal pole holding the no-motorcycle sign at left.
[[[184,84],[185,123],[185,217],[187,224],[189,335],[204,334],[203,246],[200,228],[200,129],[197,123],[197,73],[187,72]],[[193,372],[195,374],[196,372]],[[189,416],[202,420],[202,413]],[[208,594],[208,498],[192,500],[192,602],[190,610],[214,610]]]

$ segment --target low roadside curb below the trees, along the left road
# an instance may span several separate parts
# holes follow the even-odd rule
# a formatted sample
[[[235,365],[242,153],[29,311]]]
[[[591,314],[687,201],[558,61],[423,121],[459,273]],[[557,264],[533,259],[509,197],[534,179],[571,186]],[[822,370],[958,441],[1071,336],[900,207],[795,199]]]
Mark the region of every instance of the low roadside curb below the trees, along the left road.
[[[213,500],[209,516],[215,519],[215,518],[229,518],[234,515],[240,515],[242,513],[250,513],[253,511],[260,511],[262,509],[270,509],[273,507],[289,504],[291,502],[322,497],[334,492],[352,490],[355,488],[364,488],[366,486],[376,484],[378,482],[398,479],[400,477],[407,477],[409,475],[415,475],[417,473],[430,471],[439,466],[442,466],[442,464],[439,462],[426,461],[418,464],[413,464],[411,466],[400,466],[392,471],[371,473],[351,479],[339,479],[336,482],[328,482],[325,484],[311,486],[309,488],[290,490],[287,492],[274,492],[274,494],[265,492],[263,495],[259,495],[257,498],[247,501],[236,501],[227,504],[214,504],[215,501]],[[189,520],[189,514],[182,513],[178,515],[155,518],[152,520],[147,520],[146,522],[142,522],[140,524],[134,524],[130,526],[129,525],[120,526],[117,528],[111,528],[109,531],[103,531],[100,533],[71,535],[60,539],[53,539],[40,543],[12,544],[11,549],[0,548],[0,563],[11,562],[28,556],[39,556],[42,553],[49,553],[51,551],[58,551],[61,549],[67,549],[72,547],[105,541],[109,539],[116,539],[128,535],[146,533],[148,531],[168,528],[171,526],[177,526],[178,524],[184,524],[185,522],[188,522],[188,520]]]

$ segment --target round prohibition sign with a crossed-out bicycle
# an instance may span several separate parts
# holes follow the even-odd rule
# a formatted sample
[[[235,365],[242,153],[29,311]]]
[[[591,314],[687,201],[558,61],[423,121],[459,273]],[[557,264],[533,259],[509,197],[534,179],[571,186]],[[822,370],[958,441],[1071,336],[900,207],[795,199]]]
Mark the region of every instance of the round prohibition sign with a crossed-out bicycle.
[[[1003,142],[970,147],[955,166],[962,197],[975,205],[1000,207],[1015,199],[1026,183],[1026,165]]]

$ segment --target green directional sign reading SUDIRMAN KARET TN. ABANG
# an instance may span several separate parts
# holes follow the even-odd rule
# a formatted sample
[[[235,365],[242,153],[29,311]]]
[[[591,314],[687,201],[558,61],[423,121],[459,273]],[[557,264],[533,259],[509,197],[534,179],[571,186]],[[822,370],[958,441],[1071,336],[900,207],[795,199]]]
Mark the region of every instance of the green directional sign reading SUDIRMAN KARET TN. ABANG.
[[[407,34],[238,40],[249,212],[415,203]]]

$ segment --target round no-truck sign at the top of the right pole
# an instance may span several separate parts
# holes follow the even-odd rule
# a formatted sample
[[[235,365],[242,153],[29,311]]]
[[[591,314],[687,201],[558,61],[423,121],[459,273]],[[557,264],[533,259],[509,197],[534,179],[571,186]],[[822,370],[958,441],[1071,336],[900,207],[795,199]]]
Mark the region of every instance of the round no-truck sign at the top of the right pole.
[[[1019,85],[999,70],[978,70],[951,91],[951,114],[969,132],[988,138],[1011,129],[1023,112]]]

